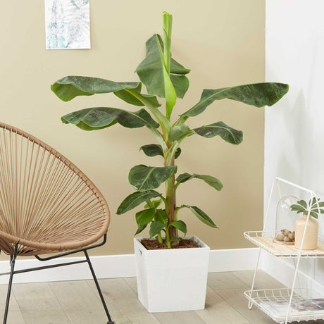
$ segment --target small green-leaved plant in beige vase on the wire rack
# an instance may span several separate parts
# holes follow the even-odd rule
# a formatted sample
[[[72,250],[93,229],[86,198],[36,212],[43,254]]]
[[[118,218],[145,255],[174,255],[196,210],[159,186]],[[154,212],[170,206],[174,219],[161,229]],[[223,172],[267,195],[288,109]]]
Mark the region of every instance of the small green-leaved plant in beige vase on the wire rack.
[[[306,201],[301,199],[297,201],[297,204],[290,206],[292,211],[296,211],[297,214],[303,214],[303,216],[294,223],[294,246],[297,249],[301,248],[305,226],[306,233],[302,249],[313,250],[318,246],[318,222],[314,218],[318,219],[318,213],[324,213],[324,210],[320,209],[320,207],[324,207],[324,202],[319,200],[320,199],[316,200],[316,198],[313,198],[313,200],[310,200],[309,204],[307,204]],[[308,214],[310,216],[307,221]]]

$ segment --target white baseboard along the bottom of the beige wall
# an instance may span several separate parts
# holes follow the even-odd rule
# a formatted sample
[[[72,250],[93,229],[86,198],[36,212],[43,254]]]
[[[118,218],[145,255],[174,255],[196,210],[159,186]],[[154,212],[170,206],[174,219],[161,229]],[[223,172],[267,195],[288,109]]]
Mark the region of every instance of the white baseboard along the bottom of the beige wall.
[[[211,250],[208,272],[252,270],[256,264],[258,248],[249,249],[222,249]],[[92,266],[97,278],[126,278],[135,277],[135,254],[123,254],[116,256],[92,256]],[[38,261],[36,259],[18,260],[15,262],[15,270],[47,266],[55,263],[84,260],[82,257],[58,258],[51,261]],[[8,261],[0,261],[0,273],[10,271]],[[46,270],[19,273],[14,275],[14,283],[23,282],[50,282],[65,280],[88,280],[91,273],[87,263],[71,266],[49,268]],[[0,284],[8,283],[8,275],[0,275]]]

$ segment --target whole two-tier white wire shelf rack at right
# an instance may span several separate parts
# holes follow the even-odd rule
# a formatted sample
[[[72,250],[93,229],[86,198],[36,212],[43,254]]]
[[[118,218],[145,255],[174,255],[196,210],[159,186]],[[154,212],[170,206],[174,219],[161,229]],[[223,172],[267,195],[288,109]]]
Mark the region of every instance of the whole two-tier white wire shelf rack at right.
[[[249,231],[244,232],[244,237],[248,239],[251,243],[255,244],[260,248],[258,252],[258,259],[256,261],[256,268],[254,270],[254,277],[252,280],[251,290],[244,292],[245,297],[249,299],[249,309],[253,305],[256,305],[261,311],[266,313],[270,318],[275,320],[278,323],[288,323],[292,321],[301,321],[301,320],[317,320],[324,319],[324,295],[318,295],[317,291],[314,289],[301,289],[300,287],[305,287],[304,285],[299,285],[299,279],[297,274],[299,272],[299,264],[301,258],[324,258],[324,237],[318,236],[318,247],[313,250],[301,249],[304,244],[304,239],[306,236],[306,228],[309,223],[309,218],[311,217],[311,208],[309,208],[308,215],[306,217],[306,223],[304,226],[304,234],[301,239],[301,244],[298,249],[294,244],[280,244],[278,241],[273,242],[273,239],[277,236],[278,232],[282,228],[282,224],[285,228],[289,228],[292,224],[289,222],[280,223],[281,218],[287,218],[290,220],[292,218],[291,213],[287,213],[294,204],[294,200],[297,200],[296,197],[287,196],[282,197],[282,191],[280,184],[288,185],[293,189],[298,189],[299,191],[304,192],[305,195],[308,195],[310,201],[318,201],[316,193],[310,189],[295,185],[292,182],[276,177],[273,181],[273,185],[270,191],[270,197],[268,200],[268,207],[266,209],[266,217],[264,220],[263,230],[262,231]],[[271,201],[273,199],[274,187],[277,185],[278,194],[279,194],[279,203],[277,206],[277,213],[275,217],[275,222],[273,222],[273,217],[270,218],[269,211]],[[280,208],[279,208],[279,207]],[[317,207],[319,208],[318,202]],[[278,209],[279,208],[279,209]],[[278,210],[282,215],[278,215]],[[273,211],[270,212],[271,215],[274,214]],[[324,232],[324,224],[320,217],[318,217],[321,233]],[[269,226],[270,225],[270,226]],[[293,226],[292,226],[293,227]],[[323,235],[324,236],[324,235]],[[289,285],[291,289],[254,289],[254,283],[256,280],[256,271],[258,269],[258,264],[260,261],[261,249],[268,251],[268,253],[273,254],[274,256],[282,258],[292,258],[294,263],[294,276],[292,278],[292,285]],[[313,266],[313,272],[315,271],[315,266]],[[313,278],[315,273],[313,273]],[[311,277],[309,277],[311,278]],[[299,287],[297,287],[297,282]],[[306,286],[307,287],[307,286]],[[322,289],[324,292],[324,289]],[[322,291],[319,290],[319,291]]]

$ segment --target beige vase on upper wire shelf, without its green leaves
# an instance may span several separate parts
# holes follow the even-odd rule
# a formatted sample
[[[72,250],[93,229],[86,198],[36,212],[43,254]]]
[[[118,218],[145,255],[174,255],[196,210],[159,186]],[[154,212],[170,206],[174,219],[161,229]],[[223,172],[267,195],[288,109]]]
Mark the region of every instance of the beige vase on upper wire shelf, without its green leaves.
[[[303,239],[305,225],[306,225],[307,215],[303,215],[303,217],[296,220],[294,223],[294,246],[297,249],[301,247],[301,240]],[[317,248],[317,240],[318,240],[318,223],[317,221],[309,216],[309,222],[306,227],[306,234],[304,239],[303,250],[313,250]]]

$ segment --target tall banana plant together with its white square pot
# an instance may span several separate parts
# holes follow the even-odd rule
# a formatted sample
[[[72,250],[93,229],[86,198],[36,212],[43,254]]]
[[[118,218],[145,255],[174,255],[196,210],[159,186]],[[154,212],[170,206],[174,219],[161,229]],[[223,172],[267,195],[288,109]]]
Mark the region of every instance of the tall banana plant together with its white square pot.
[[[137,232],[139,234],[149,226],[149,235],[156,237],[163,250],[158,250],[158,257],[152,256],[152,250],[147,251],[138,239],[135,239],[135,254],[137,261],[138,284],[144,281],[145,288],[138,287],[139,299],[149,311],[184,311],[189,309],[203,309],[206,294],[206,275],[208,267],[208,247],[194,237],[198,242],[199,249],[172,249],[180,244],[178,231],[186,234],[187,225],[178,218],[182,208],[189,208],[190,211],[203,223],[212,228],[217,228],[213,220],[197,206],[176,204],[177,187],[194,178],[203,180],[207,185],[216,190],[222,189],[223,185],[216,177],[211,175],[199,175],[196,173],[177,173],[175,159],[181,154],[180,144],[191,135],[199,135],[205,138],[219,136],[230,144],[242,142],[242,131],[217,121],[197,128],[190,128],[187,124],[189,118],[198,116],[213,103],[220,99],[231,99],[256,107],[272,106],[288,91],[288,85],[282,83],[258,83],[252,85],[239,85],[236,87],[224,87],[222,89],[204,89],[200,100],[185,113],[175,116],[175,104],[177,98],[183,98],[189,87],[187,74],[189,69],[175,61],[171,56],[171,27],[172,15],[163,13],[163,37],[153,35],[147,40],[147,54],[142,63],[137,66],[136,73],[140,82],[113,82],[96,77],[68,76],[56,81],[51,85],[52,91],[63,101],[70,101],[75,96],[90,96],[93,94],[104,94],[113,92],[118,98],[133,106],[144,107],[138,111],[126,111],[119,108],[96,107],[85,108],[80,111],[68,113],[61,119],[63,123],[76,125],[82,130],[101,130],[119,123],[124,127],[138,128],[147,127],[154,135],[156,143],[147,144],[141,147],[147,156],[162,156],[163,166],[134,166],[128,175],[130,185],[135,192],[126,197],[118,207],[118,214],[126,213],[140,204],[145,204],[144,209],[136,213]],[[147,92],[143,91],[143,87]],[[163,108],[161,108],[161,101]],[[177,174],[177,176],[176,176]],[[156,191],[158,187],[165,184],[165,194]],[[185,254],[185,259],[180,258],[180,253]],[[189,251],[191,250],[191,251]],[[194,255],[187,260],[188,254],[201,250],[204,260]],[[196,252],[194,252],[196,251]],[[154,251],[155,252],[155,251]],[[171,253],[172,252],[172,253]],[[175,257],[172,257],[172,255]],[[155,273],[158,278],[152,280],[154,287],[151,292],[144,291],[149,282],[141,271],[147,273],[148,261],[141,261],[144,256],[152,256],[155,262],[160,260],[151,268],[150,273]],[[195,260],[196,273],[188,275],[188,262]],[[181,263],[175,266],[175,262]],[[201,268],[197,268],[201,264]],[[167,268],[162,268],[166,266]],[[179,273],[175,268],[181,268]],[[185,267],[185,268],[183,268]],[[185,270],[184,270],[185,269]],[[186,275],[184,275],[186,274]],[[203,277],[202,281],[197,276]],[[149,275],[148,275],[149,276]],[[140,277],[140,278],[139,278]],[[151,279],[150,279],[151,280]],[[185,282],[183,282],[185,280]],[[182,281],[182,287],[175,287]],[[194,292],[190,284],[197,284],[199,292]],[[150,284],[151,285],[151,284]],[[185,286],[185,287],[184,287]],[[187,287],[188,286],[188,287]],[[161,291],[166,291],[167,296],[161,296]],[[177,292],[174,297],[170,291]],[[159,301],[153,301],[156,293],[159,292]],[[182,292],[182,297],[178,293]],[[186,297],[186,295],[189,295]],[[201,297],[199,297],[201,295]],[[196,299],[196,302],[187,302],[187,299]],[[185,306],[179,301],[187,302]],[[165,308],[163,308],[165,307]]]

